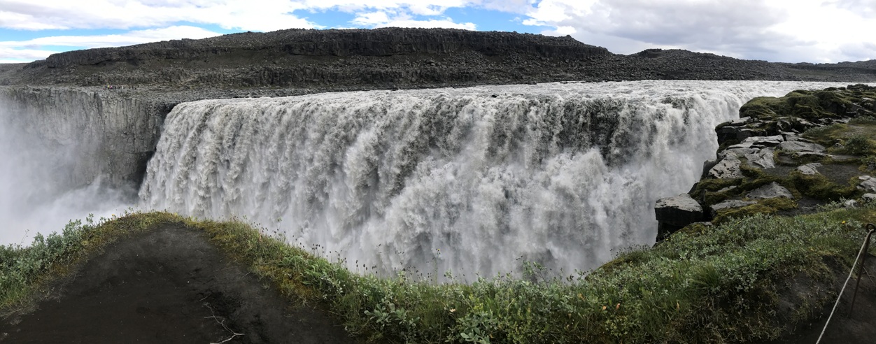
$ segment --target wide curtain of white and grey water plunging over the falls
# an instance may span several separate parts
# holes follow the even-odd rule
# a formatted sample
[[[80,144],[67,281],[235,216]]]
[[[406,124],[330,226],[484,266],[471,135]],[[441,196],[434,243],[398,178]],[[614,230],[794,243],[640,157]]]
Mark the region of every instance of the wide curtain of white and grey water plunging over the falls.
[[[714,128],[759,95],[841,86],[636,81],[188,102],[167,116],[144,207],[245,216],[379,271],[476,274],[519,258],[587,270],[650,244]]]

